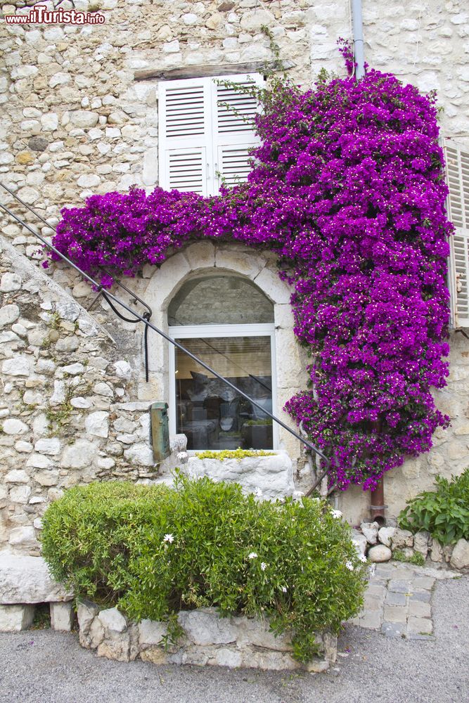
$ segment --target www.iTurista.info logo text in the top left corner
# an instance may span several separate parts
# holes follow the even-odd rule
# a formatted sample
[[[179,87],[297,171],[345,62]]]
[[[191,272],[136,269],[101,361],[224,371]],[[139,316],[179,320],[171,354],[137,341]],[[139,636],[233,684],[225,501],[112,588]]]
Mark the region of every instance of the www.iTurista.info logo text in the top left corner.
[[[54,0],[48,4],[39,0],[38,4],[25,4],[15,13],[4,15],[0,22],[7,25],[103,25],[105,16],[101,12],[77,10],[73,0]]]

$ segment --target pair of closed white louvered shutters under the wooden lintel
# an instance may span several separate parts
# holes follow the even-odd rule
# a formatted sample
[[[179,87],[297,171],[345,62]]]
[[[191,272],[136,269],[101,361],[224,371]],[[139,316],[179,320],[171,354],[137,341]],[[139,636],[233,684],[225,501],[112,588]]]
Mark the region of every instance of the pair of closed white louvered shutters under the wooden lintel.
[[[264,83],[259,74],[160,82],[162,188],[214,195],[220,175],[228,186],[247,179],[249,151],[259,143],[252,129],[258,106],[255,98],[217,83],[225,79],[243,85]]]

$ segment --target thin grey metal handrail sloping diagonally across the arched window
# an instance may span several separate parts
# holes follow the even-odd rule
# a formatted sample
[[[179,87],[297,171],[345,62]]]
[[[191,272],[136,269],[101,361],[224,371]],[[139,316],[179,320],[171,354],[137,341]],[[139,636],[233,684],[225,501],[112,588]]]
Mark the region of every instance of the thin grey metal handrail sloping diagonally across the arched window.
[[[27,209],[29,209],[30,212],[32,212],[36,217],[38,217],[38,219],[40,219],[40,220],[43,221],[48,227],[50,227],[51,229],[53,229],[54,231],[56,231],[56,228],[55,228],[55,227],[51,226],[51,224],[49,224],[49,222],[47,222],[46,219],[44,219],[44,217],[42,217],[39,213],[35,212],[34,209],[33,209],[32,207],[30,207],[30,205],[27,204],[27,202],[25,202],[24,200],[22,200],[21,198],[19,198],[18,195],[16,195],[15,193],[13,193],[13,191],[11,191],[11,189],[8,188],[8,186],[6,186],[6,185],[5,185],[4,183],[2,183],[1,181],[0,181],[0,186],[2,186],[6,191],[8,191],[8,193],[10,193],[11,195],[13,195],[13,198],[15,198],[15,200],[18,200],[18,202],[20,202],[22,205],[24,205],[25,207],[27,207]],[[116,295],[114,295],[114,294],[111,293],[110,291],[107,291],[107,290],[105,291],[105,290],[103,289],[103,286],[102,286],[100,283],[98,283],[96,280],[94,280],[94,278],[92,278],[91,276],[89,276],[88,273],[85,273],[85,271],[82,271],[82,269],[80,269],[79,266],[77,266],[77,264],[75,264],[74,262],[72,262],[71,259],[69,259],[68,257],[66,257],[65,254],[63,254],[63,253],[60,252],[56,247],[54,247],[53,244],[49,243],[41,234],[39,234],[38,232],[36,232],[29,224],[27,224],[27,223],[26,223],[25,221],[23,221],[20,217],[18,217],[18,215],[16,215],[14,212],[12,212],[11,209],[9,209],[8,207],[6,207],[6,205],[4,205],[2,202],[0,202],[0,207],[1,207],[1,209],[3,209],[8,215],[10,215],[10,217],[13,217],[13,219],[15,219],[15,221],[17,221],[21,226],[25,227],[25,228],[26,228],[28,231],[30,231],[35,237],[37,237],[45,247],[47,247],[49,250],[51,250],[52,252],[54,252],[54,254],[56,254],[58,257],[60,257],[60,259],[62,259],[65,263],[69,264],[69,266],[72,266],[72,268],[75,269],[75,271],[77,271],[81,276],[83,276],[84,278],[86,278],[86,280],[88,280],[89,283],[91,283],[91,285],[94,285],[94,287],[96,288],[96,290],[98,290],[99,292],[101,292],[101,295],[103,295],[104,299],[106,300],[106,302],[108,302],[108,304],[110,305],[111,309],[113,309],[113,310],[115,311],[115,309],[114,309],[114,307],[113,307],[113,304],[111,304],[111,302],[110,302],[110,301],[112,300],[115,304],[120,305],[120,307],[122,307],[124,310],[127,310],[127,312],[129,312],[131,315],[134,315],[136,318],[139,319],[139,321],[143,322],[143,324],[146,325],[146,327],[147,327],[148,329],[151,329],[151,330],[153,330],[154,332],[156,332],[158,335],[160,335],[160,337],[163,337],[165,340],[167,340],[167,342],[169,342],[169,343],[172,344],[174,347],[176,347],[176,349],[179,349],[181,352],[183,352],[184,354],[186,354],[187,356],[189,356],[191,359],[193,359],[193,361],[195,361],[195,362],[198,363],[200,366],[202,366],[203,368],[205,368],[205,370],[207,370],[209,373],[212,373],[212,375],[214,375],[216,378],[218,378],[219,380],[221,380],[222,382],[224,382],[225,385],[227,385],[229,388],[231,388],[231,389],[232,389],[233,391],[235,391],[237,394],[239,394],[240,396],[243,396],[243,398],[245,398],[246,400],[250,401],[250,403],[252,403],[253,406],[255,406],[255,407],[258,408],[260,411],[262,411],[262,413],[264,413],[264,415],[267,415],[269,418],[271,418],[271,420],[273,420],[275,423],[277,423],[277,425],[279,425],[280,427],[282,427],[283,430],[286,430],[287,432],[289,432],[293,437],[295,437],[295,439],[300,440],[300,442],[301,442],[302,444],[304,444],[305,446],[307,446],[307,448],[309,449],[309,451],[312,451],[312,452],[314,452],[316,455],[320,456],[321,459],[323,459],[323,461],[326,462],[326,469],[323,470],[323,472],[321,472],[321,474],[319,475],[319,477],[316,477],[316,481],[314,482],[313,486],[311,486],[311,488],[309,489],[309,491],[307,491],[307,495],[311,494],[311,493],[317,488],[317,486],[319,486],[319,484],[321,484],[321,481],[322,481],[323,477],[326,476],[326,474],[328,473],[328,470],[329,470],[329,468],[330,468],[330,459],[321,451],[321,449],[319,449],[319,448],[316,447],[314,444],[312,444],[312,442],[309,441],[308,439],[304,439],[304,437],[301,437],[300,434],[298,434],[297,432],[295,432],[295,430],[292,430],[291,427],[288,427],[288,425],[285,425],[285,423],[283,422],[283,420],[281,420],[280,418],[277,418],[276,415],[274,415],[273,413],[270,413],[269,411],[267,411],[262,405],[260,405],[259,403],[257,403],[257,401],[253,400],[250,396],[248,396],[247,393],[243,392],[240,388],[236,387],[233,383],[231,383],[231,381],[229,381],[227,378],[224,378],[224,376],[220,375],[216,370],[214,370],[213,368],[211,368],[207,363],[205,363],[205,361],[202,361],[201,359],[198,359],[198,356],[195,356],[195,354],[192,354],[192,352],[189,352],[189,350],[186,349],[186,347],[183,347],[182,344],[179,344],[179,342],[176,342],[176,340],[172,339],[172,337],[169,337],[169,335],[167,335],[165,332],[163,332],[162,330],[160,330],[158,327],[155,327],[155,325],[153,325],[152,323],[150,323],[150,321],[148,321],[148,319],[146,318],[146,316],[142,316],[142,315],[139,314],[138,312],[136,312],[136,311],[134,311],[133,309],[131,309],[131,307],[129,307],[129,305],[127,305],[127,303],[125,303],[123,300],[121,300],[120,298],[118,298]],[[126,288],[126,290],[129,290],[129,289]],[[134,292],[132,291],[131,294],[134,295]],[[140,300],[140,299],[139,299],[139,300]],[[143,303],[143,305],[145,305],[145,307],[148,308],[148,306],[147,306],[143,301],[141,301],[141,302]],[[117,311],[115,311],[115,312],[117,313]],[[117,314],[118,314],[118,313],[117,313]],[[148,315],[148,314],[146,314],[146,315]]]

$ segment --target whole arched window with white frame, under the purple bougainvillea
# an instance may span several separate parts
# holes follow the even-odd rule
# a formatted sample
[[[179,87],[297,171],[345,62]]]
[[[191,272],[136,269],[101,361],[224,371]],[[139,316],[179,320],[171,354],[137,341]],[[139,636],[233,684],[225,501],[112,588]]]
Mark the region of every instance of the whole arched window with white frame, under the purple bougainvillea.
[[[168,309],[169,335],[268,411],[275,406],[274,305],[247,278],[191,278]],[[188,449],[274,449],[276,427],[243,396],[172,349],[170,422]]]

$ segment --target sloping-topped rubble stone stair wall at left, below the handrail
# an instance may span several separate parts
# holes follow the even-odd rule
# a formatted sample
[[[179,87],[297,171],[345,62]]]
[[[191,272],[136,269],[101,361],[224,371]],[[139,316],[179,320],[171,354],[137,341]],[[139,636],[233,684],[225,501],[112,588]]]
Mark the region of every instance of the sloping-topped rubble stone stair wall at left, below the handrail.
[[[135,401],[136,350],[6,241],[0,297],[0,549],[34,555],[63,489],[155,476],[150,403]]]

